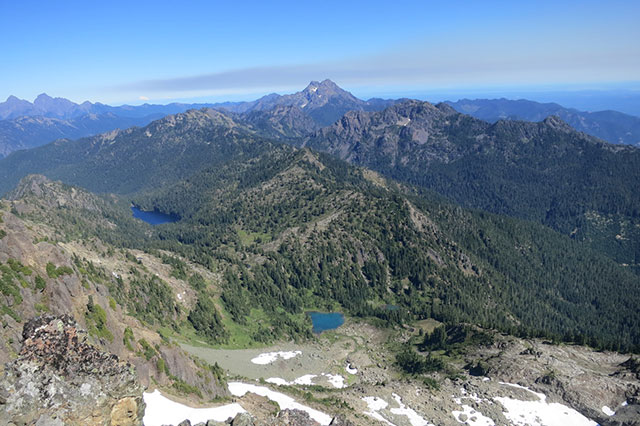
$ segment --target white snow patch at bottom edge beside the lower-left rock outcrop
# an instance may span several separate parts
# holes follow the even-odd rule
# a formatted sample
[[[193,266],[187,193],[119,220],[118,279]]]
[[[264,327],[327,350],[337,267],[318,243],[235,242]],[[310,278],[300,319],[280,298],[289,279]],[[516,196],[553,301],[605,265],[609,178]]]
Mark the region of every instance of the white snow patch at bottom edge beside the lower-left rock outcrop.
[[[190,420],[192,424],[215,420],[224,422],[229,417],[244,413],[240,404],[233,403],[211,408],[192,408],[165,397],[157,389],[143,394],[147,408],[142,422],[145,426],[177,425],[183,420]]]

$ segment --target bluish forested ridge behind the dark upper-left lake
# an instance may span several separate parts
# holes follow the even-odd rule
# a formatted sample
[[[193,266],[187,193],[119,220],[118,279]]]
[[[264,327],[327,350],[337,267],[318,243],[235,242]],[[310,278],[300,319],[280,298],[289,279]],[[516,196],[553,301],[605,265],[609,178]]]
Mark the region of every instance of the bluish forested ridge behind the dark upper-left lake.
[[[20,175],[42,173],[95,192],[133,193],[267,149],[263,140],[224,113],[191,110],[144,128],[16,152],[4,160],[0,191],[8,191]]]

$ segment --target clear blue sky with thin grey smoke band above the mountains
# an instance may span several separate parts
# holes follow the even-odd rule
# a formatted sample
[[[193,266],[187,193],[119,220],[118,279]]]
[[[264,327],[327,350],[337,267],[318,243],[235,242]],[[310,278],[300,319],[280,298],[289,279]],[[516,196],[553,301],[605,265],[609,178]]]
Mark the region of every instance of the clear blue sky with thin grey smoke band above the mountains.
[[[638,1],[0,0],[0,98],[637,89],[638,22]]]

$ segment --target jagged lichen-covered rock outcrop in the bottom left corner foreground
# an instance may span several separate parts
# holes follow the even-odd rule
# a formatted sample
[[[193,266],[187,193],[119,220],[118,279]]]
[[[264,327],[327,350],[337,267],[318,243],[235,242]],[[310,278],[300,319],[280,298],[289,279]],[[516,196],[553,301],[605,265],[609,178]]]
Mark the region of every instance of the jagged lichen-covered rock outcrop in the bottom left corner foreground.
[[[0,424],[128,426],[142,423],[135,369],[86,341],[69,315],[28,321],[18,358],[0,381]]]

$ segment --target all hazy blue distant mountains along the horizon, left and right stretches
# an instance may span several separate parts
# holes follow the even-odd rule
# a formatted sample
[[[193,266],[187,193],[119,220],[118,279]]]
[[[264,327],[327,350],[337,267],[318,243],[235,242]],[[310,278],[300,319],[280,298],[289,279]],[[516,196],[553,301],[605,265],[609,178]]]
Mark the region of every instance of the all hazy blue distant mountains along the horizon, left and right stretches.
[[[312,81],[300,92],[272,93],[250,102],[109,106],[88,101],[76,104],[44,93],[33,103],[9,96],[6,102],[0,103],[0,158],[56,139],[77,139],[145,126],[165,115],[190,109],[223,109],[236,114],[231,114],[234,120],[262,130],[263,136],[286,139],[308,136],[335,123],[349,111],[381,111],[403,101],[406,99],[358,99],[331,80]],[[610,143],[640,145],[640,118],[617,111],[583,112],[558,104],[507,99],[463,99],[447,103],[459,112],[488,122],[542,121],[555,115],[575,129]]]

